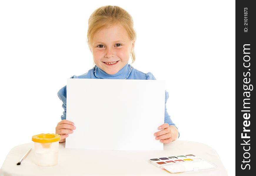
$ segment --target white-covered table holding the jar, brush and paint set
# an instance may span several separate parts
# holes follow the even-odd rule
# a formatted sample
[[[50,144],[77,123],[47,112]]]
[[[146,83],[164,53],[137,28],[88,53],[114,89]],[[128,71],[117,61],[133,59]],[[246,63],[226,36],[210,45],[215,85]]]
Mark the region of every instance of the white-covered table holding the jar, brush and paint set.
[[[29,155],[21,165],[16,165],[30,147],[32,150]],[[173,175],[227,176],[227,171],[213,148],[202,143],[179,140],[164,144],[164,150],[145,151],[71,149],[65,148],[65,143],[59,143],[58,164],[50,167],[35,165],[34,143],[26,143],[11,149],[1,167],[0,176],[170,175],[172,173],[152,165],[148,160],[167,155],[190,154],[208,160],[217,167]]]

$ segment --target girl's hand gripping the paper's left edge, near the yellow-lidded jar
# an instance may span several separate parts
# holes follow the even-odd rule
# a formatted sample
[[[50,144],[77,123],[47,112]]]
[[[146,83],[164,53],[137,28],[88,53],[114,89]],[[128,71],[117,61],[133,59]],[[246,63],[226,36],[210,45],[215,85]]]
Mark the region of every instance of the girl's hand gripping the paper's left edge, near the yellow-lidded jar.
[[[61,140],[59,143],[66,142],[66,138],[69,136],[68,134],[73,133],[73,130],[76,129],[74,126],[74,123],[72,121],[68,120],[62,120],[58,123],[56,126],[56,134],[59,134],[61,137]]]

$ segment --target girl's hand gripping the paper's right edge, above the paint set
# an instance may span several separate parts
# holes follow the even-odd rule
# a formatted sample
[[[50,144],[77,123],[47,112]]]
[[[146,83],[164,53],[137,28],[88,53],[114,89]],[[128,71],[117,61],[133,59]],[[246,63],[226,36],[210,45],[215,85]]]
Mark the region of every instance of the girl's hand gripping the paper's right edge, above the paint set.
[[[160,142],[170,143],[175,140],[172,138],[172,129],[169,127],[168,123],[162,124],[161,126],[158,127],[158,129],[159,130],[163,129],[163,130],[154,133],[154,136],[156,136],[157,140],[160,139]]]

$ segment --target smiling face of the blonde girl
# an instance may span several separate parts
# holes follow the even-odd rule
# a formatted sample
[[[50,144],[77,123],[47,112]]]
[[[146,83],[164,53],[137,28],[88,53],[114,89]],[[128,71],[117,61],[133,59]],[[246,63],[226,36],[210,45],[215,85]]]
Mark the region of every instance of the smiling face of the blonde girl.
[[[114,75],[128,63],[134,44],[124,27],[114,25],[94,34],[90,50],[94,63],[107,74]]]

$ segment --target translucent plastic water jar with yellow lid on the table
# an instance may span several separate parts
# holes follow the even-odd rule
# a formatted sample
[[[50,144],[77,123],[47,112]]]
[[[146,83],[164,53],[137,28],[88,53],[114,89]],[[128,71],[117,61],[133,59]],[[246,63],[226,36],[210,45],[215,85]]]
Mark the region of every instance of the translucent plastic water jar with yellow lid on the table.
[[[38,166],[53,166],[58,164],[59,134],[38,134],[32,136],[35,149],[35,164]]]

